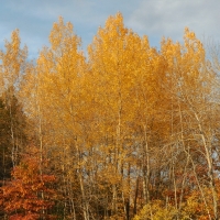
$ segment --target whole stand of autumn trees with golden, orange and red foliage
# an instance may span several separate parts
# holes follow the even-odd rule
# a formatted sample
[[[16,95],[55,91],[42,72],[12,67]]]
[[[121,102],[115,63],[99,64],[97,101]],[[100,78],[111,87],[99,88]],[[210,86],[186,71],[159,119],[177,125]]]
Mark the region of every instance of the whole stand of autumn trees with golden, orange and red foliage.
[[[219,59],[109,16],[88,46],[59,18],[35,62],[0,51],[1,218],[219,219]]]

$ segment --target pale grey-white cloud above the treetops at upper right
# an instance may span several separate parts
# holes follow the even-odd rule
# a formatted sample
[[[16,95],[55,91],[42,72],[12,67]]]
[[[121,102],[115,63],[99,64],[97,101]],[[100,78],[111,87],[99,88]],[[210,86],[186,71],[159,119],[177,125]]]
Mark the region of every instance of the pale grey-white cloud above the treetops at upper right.
[[[140,33],[180,40],[185,26],[201,37],[217,36],[220,1],[145,0],[133,11],[129,25]]]

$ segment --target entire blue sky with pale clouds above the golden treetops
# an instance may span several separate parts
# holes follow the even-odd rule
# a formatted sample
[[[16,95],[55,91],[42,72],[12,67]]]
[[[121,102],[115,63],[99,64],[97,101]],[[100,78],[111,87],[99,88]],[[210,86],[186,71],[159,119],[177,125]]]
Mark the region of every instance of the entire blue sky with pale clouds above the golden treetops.
[[[98,26],[118,11],[125,26],[146,34],[152,46],[160,46],[162,36],[182,41],[185,26],[199,38],[220,40],[220,0],[0,0],[0,48],[19,29],[30,58],[36,58],[62,15],[74,24],[86,50]]]

